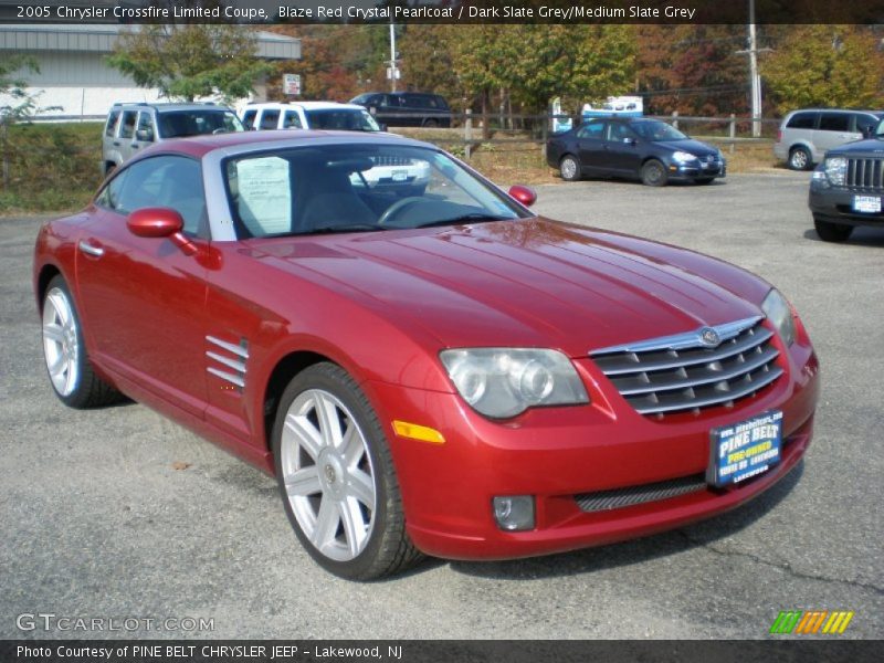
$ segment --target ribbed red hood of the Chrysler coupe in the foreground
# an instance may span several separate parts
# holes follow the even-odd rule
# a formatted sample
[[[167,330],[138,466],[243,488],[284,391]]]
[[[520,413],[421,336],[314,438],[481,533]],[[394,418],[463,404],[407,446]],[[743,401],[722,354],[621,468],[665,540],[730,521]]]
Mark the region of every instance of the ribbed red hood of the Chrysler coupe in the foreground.
[[[541,218],[253,241],[442,347],[552,347],[571,357],[759,315],[769,286],[720,261]]]

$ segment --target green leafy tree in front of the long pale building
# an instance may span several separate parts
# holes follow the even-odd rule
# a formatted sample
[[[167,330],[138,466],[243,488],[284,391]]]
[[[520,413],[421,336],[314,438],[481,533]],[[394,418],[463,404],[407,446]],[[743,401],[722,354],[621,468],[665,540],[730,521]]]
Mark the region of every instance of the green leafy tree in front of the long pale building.
[[[192,102],[249,96],[274,67],[255,55],[254,34],[240,25],[143,25],[120,36],[107,62],[141,87]]]

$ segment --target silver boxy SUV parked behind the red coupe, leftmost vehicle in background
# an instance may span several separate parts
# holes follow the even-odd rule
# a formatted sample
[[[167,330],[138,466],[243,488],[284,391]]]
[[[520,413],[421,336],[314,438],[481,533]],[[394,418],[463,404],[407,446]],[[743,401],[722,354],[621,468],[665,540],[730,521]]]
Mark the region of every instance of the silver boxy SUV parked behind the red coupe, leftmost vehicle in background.
[[[104,123],[102,175],[154,143],[242,130],[236,114],[215,104],[114,104]]]

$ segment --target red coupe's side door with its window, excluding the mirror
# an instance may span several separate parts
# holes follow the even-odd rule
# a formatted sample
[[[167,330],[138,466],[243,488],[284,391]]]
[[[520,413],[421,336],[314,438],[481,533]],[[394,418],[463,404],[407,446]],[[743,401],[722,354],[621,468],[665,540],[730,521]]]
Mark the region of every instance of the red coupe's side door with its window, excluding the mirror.
[[[185,234],[203,233],[198,161],[157,156],[124,168],[91,210],[77,243],[78,298],[96,359],[122,377],[202,417],[206,402],[206,269],[168,238],[139,238],[128,212],[170,207]]]

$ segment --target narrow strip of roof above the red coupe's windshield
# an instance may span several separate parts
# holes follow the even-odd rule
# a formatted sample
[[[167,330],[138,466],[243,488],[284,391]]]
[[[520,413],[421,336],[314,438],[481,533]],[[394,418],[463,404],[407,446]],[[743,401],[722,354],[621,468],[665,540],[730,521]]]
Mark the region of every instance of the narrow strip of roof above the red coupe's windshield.
[[[341,145],[341,144],[388,144],[388,145],[408,145],[412,147],[430,147],[438,149],[434,145],[429,143],[421,143],[420,140],[412,140],[397,136],[396,134],[386,134],[383,131],[371,131],[369,134],[357,131],[322,131],[313,129],[298,129],[293,131],[291,129],[276,129],[265,131],[233,131],[230,134],[219,135],[199,135],[188,136],[185,138],[173,138],[171,140],[164,140],[147,148],[140,152],[131,161],[140,160],[144,157],[158,154],[183,154],[191,157],[202,158],[209,152],[215,150],[230,149],[239,151],[243,146],[255,146],[266,144],[267,147],[298,147],[302,145]]]

